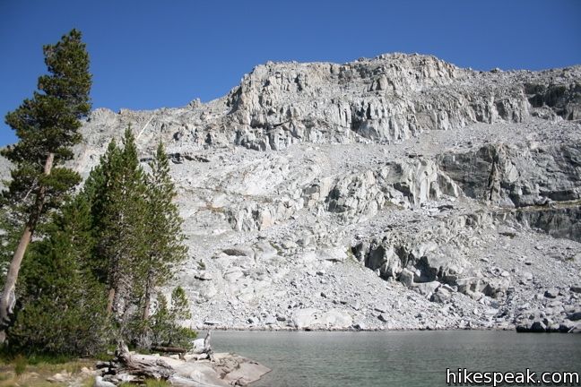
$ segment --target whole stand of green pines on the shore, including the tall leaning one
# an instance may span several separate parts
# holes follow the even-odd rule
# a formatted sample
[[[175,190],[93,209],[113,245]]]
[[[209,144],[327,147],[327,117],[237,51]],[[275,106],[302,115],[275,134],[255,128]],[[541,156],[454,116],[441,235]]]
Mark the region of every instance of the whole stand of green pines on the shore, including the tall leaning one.
[[[15,168],[0,196],[0,342],[82,356],[119,339],[187,348],[186,292],[160,292],[187,255],[166,151],[160,143],[145,173],[127,128],[74,195],[81,178],[64,162],[91,108],[89,56],[77,30],[44,53],[49,74],[6,116],[20,141],[3,150]]]

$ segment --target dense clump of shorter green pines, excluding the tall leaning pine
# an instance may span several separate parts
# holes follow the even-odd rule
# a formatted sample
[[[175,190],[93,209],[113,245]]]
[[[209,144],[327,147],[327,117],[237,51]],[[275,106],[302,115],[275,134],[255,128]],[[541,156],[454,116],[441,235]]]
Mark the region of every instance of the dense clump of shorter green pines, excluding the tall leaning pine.
[[[162,144],[150,167],[146,174],[127,129],[31,245],[8,330],[13,349],[90,355],[118,339],[191,346],[195,331],[179,325],[191,317],[186,292],[175,288],[169,301],[158,293],[187,254]]]

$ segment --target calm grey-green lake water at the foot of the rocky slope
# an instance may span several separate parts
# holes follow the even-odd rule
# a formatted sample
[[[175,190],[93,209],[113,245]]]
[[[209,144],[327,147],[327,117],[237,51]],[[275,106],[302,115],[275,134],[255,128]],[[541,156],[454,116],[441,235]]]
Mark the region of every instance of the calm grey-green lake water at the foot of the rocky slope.
[[[581,334],[214,331],[212,347],[273,369],[252,387],[445,386],[447,368],[581,374]]]

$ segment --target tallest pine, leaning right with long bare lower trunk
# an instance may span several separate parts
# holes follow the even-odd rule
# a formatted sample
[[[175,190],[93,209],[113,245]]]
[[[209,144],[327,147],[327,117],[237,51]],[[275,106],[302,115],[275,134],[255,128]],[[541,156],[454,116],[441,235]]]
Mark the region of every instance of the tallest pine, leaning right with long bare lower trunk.
[[[39,77],[32,99],[6,115],[20,141],[2,152],[15,166],[4,199],[26,219],[0,298],[0,340],[10,323],[22,259],[39,221],[80,181],[73,170],[61,166],[72,159],[71,147],[81,141],[80,119],[91,109],[89,56],[81,38],[81,32],[71,30],[55,45],[43,47],[48,74]]]

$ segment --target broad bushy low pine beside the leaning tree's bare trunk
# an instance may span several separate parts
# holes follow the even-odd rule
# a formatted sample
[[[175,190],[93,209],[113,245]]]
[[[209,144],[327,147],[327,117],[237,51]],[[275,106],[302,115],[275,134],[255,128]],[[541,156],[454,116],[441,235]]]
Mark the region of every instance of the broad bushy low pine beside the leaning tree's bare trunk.
[[[24,352],[90,355],[107,343],[105,289],[89,263],[94,238],[82,195],[66,204],[22,265],[20,307],[8,333]]]

